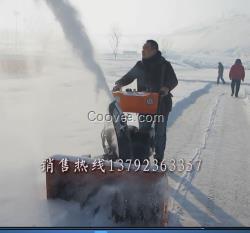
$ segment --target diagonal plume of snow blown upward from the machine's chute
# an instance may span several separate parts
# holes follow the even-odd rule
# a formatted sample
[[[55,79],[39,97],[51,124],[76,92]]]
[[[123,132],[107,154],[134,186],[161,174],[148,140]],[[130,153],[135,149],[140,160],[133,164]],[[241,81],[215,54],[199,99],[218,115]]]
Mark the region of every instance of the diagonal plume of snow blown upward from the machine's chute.
[[[79,19],[77,10],[67,0],[46,0],[46,2],[60,23],[65,38],[73,50],[84,65],[96,75],[97,91],[103,89],[111,98],[103,71],[95,61],[91,41]]]

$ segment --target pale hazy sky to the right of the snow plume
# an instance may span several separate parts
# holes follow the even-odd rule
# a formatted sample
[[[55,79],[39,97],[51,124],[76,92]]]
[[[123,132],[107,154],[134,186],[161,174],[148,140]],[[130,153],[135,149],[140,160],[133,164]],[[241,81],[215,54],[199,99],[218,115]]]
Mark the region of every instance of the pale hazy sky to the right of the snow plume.
[[[89,30],[168,34],[233,14],[250,14],[249,0],[73,0]],[[91,25],[91,26],[90,26]]]

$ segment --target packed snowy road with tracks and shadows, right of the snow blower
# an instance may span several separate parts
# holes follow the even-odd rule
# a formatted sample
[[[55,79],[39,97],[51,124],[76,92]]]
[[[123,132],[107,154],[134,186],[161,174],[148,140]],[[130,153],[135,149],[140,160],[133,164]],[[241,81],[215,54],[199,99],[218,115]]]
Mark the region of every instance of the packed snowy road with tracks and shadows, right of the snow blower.
[[[250,86],[242,85],[238,99],[229,85],[204,88],[199,98],[190,95],[182,114],[177,102],[170,118],[166,160],[200,159],[202,165],[169,174],[169,225],[249,226]]]

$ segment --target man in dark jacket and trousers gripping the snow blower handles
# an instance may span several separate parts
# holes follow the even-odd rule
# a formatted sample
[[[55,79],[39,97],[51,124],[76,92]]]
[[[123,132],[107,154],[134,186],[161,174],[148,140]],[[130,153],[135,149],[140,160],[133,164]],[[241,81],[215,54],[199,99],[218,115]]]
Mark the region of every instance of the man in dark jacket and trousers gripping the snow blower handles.
[[[116,81],[113,91],[119,91],[123,86],[137,79],[139,92],[157,92],[160,94],[157,115],[163,117],[149,117],[139,114],[139,129],[155,128],[155,154],[154,158],[160,164],[164,158],[166,147],[166,127],[168,115],[172,109],[172,94],[178,80],[170,62],[162,57],[158,44],[154,40],[147,40],[142,49],[142,60],[121,79]],[[141,120],[144,119],[144,120]],[[145,119],[151,119],[149,121]],[[153,120],[152,120],[153,119]],[[158,119],[158,120],[155,120]]]

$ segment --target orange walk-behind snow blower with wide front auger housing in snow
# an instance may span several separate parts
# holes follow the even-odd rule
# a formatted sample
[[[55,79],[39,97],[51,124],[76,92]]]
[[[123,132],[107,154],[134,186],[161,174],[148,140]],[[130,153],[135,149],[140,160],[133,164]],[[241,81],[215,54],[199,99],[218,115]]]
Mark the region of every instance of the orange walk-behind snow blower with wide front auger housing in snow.
[[[166,226],[167,168],[152,161],[154,128],[129,125],[124,115],[156,114],[159,94],[127,89],[113,96],[112,120],[101,132],[104,155],[47,159],[47,198],[77,201],[90,218],[106,211],[118,226]]]

